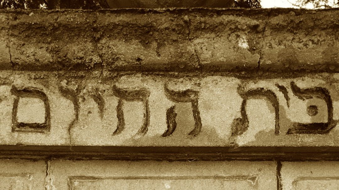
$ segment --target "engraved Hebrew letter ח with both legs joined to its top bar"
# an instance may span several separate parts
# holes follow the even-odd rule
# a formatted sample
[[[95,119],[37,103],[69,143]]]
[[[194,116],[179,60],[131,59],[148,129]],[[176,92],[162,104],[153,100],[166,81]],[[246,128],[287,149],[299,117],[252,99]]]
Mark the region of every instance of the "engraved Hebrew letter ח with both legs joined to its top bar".
[[[123,101],[141,101],[144,107],[144,117],[143,117],[143,124],[141,128],[137,132],[136,136],[141,137],[146,134],[149,126],[149,104],[148,104],[148,97],[151,94],[147,89],[141,88],[138,90],[129,90],[129,89],[121,89],[117,86],[113,86],[114,95],[119,98],[118,105],[117,105],[117,117],[118,117],[118,124],[117,129],[113,132],[113,135],[121,133],[121,131],[125,127],[124,121],[124,113],[123,113]]]

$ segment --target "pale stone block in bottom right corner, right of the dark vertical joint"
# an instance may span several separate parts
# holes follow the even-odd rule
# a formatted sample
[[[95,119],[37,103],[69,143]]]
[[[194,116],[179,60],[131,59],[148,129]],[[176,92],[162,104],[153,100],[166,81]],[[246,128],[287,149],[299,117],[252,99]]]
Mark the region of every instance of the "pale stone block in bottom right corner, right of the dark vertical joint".
[[[335,190],[339,188],[337,161],[283,162],[282,190]]]

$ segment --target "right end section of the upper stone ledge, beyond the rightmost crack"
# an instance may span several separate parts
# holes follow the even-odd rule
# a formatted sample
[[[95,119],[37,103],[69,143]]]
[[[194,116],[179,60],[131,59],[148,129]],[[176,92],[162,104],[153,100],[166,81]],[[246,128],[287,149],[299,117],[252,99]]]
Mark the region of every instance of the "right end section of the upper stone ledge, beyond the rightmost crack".
[[[275,72],[338,72],[339,22],[338,15],[331,14],[337,11],[272,11],[263,36],[260,67]]]

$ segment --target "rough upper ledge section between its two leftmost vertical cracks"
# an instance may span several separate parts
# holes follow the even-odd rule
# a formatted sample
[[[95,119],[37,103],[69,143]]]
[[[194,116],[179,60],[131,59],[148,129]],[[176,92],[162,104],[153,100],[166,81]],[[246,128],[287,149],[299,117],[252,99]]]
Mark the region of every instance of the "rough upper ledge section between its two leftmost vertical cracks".
[[[85,14],[85,13],[84,13]],[[48,15],[48,16],[47,16]],[[26,12],[8,17],[11,61],[17,70],[81,70],[101,64],[92,13]],[[77,32],[65,30],[74,23]]]

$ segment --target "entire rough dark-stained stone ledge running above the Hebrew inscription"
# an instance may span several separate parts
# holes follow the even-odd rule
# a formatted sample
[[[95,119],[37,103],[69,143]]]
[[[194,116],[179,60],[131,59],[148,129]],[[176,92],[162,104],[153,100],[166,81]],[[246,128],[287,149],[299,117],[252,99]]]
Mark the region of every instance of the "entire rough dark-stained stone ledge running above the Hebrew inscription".
[[[0,11],[14,70],[338,72],[338,9]]]

